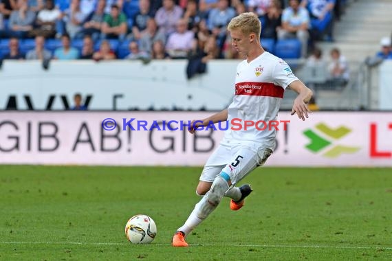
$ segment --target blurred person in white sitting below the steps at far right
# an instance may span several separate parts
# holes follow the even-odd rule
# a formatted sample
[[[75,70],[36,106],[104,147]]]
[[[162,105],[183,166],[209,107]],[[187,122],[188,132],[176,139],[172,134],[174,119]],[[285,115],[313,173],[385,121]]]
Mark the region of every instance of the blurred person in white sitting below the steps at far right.
[[[349,82],[349,65],[345,56],[340,54],[339,49],[331,50],[331,63],[329,63],[328,71],[330,74],[329,83],[333,85],[345,86]]]

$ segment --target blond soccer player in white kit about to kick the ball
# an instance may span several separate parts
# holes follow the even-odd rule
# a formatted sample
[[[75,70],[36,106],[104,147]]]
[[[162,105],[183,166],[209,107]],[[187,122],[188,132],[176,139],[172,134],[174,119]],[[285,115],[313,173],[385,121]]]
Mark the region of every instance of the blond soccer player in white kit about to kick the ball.
[[[294,76],[287,63],[261,47],[261,23],[257,16],[252,12],[239,14],[230,21],[228,30],[232,46],[246,58],[237,66],[235,98],[228,109],[204,120],[193,120],[190,133],[209,122],[228,120],[230,123],[234,118],[254,122],[276,120],[286,87],[298,93],[291,115],[296,114],[305,120],[311,113],[307,102],[312,98],[312,91]],[[173,247],[188,247],[185,237],[214,211],[224,196],[232,198],[232,210],[243,206],[244,198],[252,190],[250,185],[237,188],[235,184],[258,166],[263,166],[274,150],[275,136],[274,128],[265,128],[264,131],[256,128],[232,131],[228,128],[221,144],[204,166],[197,185],[196,193],[204,196],[184,225],[177,229],[172,238]]]

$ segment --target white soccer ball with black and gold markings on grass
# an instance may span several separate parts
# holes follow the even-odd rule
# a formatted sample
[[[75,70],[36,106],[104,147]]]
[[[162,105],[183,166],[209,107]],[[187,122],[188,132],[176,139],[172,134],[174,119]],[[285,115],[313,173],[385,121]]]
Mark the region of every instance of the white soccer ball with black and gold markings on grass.
[[[146,215],[136,215],[129,218],[125,225],[125,236],[133,244],[148,244],[153,242],[157,234],[157,226],[153,218]]]

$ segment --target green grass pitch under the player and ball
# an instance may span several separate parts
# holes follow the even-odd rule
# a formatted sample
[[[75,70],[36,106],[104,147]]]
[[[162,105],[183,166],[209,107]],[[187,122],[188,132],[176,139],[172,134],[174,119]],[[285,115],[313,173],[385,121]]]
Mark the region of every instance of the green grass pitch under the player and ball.
[[[0,260],[392,260],[392,169],[259,168],[238,212],[224,198],[170,245],[202,168],[0,166]],[[150,245],[130,216],[157,224]]]

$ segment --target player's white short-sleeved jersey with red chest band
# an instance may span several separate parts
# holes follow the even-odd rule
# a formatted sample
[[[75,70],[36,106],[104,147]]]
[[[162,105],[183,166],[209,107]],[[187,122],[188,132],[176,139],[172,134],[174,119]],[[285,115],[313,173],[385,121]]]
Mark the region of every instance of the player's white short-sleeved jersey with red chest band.
[[[276,120],[283,93],[294,80],[298,80],[298,78],[294,76],[289,65],[269,52],[263,52],[250,63],[243,60],[237,66],[235,97],[228,107],[229,128],[222,143],[249,142],[274,150],[275,128],[267,126],[263,131],[259,131],[255,126],[252,126],[245,131],[244,121],[262,120],[269,124],[270,121]],[[233,119],[242,120],[240,122],[241,130],[232,130],[233,127],[239,128],[232,125]],[[263,128],[263,124],[258,124],[258,126]],[[278,128],[283,128],[283,124],[279,124]]]

